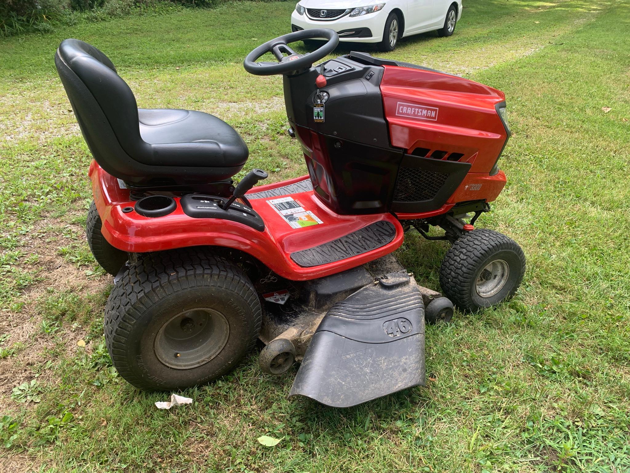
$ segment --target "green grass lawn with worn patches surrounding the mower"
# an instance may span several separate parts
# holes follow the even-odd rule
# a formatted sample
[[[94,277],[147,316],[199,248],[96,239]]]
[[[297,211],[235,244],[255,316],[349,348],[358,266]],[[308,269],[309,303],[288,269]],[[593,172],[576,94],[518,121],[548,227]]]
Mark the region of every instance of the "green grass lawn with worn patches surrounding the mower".
[[[141,107],[225,119],[249,145],[247,170],[281,180],[306,173],[285,134],[282,79],[241,63],[289,30],[293,7],[241,3],[0,41],[0,471],[629,472],[627,0],[465,0],[454,36],[382,54],[505,91],[514,132],[500,161],[507,187],[478,226],[522,245],[524,284],[501,307],[428,327],[426,388],[329,409],[287,400],[295,370],[268,377],[252,354],[185,390],[192,406],[158,411],[165,394],[117,376],[102,333],[112,278],[83,235],[90,156],[55,48],[95,44]],[[398,257],[438,288],[446,250],[412,234]],[[261,435],[282,441],[263,447]]]

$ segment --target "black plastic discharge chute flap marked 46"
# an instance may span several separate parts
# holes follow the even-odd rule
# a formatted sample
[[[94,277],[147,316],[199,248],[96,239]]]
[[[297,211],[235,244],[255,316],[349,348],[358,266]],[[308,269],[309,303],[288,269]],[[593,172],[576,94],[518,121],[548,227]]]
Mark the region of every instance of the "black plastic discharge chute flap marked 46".
[[[290,396],[350,407],[425,383],[422,295],[405,271],[333,305],[314,333]]]

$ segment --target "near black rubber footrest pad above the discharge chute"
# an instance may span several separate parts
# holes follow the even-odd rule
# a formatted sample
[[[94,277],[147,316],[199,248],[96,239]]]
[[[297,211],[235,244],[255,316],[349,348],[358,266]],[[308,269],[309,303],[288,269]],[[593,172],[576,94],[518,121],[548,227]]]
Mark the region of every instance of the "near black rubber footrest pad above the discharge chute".
[[[302,267],[320,266],[381,248],[394,237],[396,227],[391,222],[381,220],[332,242],[296,251],[291,254],[291,259]]]

